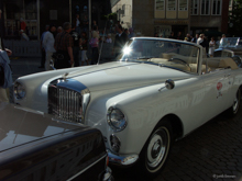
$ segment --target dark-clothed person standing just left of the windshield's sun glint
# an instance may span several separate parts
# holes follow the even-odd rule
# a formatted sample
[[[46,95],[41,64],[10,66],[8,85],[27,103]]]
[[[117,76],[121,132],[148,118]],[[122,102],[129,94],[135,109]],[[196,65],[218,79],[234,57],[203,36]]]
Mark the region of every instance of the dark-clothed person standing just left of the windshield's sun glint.
[[[116,57],[117,57],[119,54],[122,53],[122,48],[125,45],[125,43],[128,42],[128,36],[123,32],[123,29],[120,24],[116,26],[116,31],[118,32],[118,34],[116,35],[116,41],[114,41],[112,54],[116,53]]]

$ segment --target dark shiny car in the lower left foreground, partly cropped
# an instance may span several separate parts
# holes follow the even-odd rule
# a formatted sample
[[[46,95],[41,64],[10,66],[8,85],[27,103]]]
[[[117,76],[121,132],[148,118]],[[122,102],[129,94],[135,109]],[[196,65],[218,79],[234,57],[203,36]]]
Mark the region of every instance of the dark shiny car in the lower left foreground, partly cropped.
[[[0,180],[112,180],[100,131],[0,103]]]

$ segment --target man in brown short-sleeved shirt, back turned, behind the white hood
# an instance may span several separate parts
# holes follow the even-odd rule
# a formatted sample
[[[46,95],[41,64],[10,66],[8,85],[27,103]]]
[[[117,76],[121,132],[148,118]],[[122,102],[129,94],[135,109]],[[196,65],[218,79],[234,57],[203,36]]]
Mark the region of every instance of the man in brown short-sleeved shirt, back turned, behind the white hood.
[[[73,57],[73,37],[69,34],[72,31],[72,24],[65,22],[63,24],[64,32],[56,35],[55,38],[55,49],[57,55],[57,60],[55,61],[55,68],[69,68],[74,65]]]

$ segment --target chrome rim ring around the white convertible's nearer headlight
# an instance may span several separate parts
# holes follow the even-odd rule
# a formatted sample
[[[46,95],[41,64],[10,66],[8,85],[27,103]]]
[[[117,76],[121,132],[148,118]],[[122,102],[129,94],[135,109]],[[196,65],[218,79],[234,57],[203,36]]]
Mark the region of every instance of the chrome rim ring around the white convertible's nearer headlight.
[[[111,113],[112,113],[113,111],[119,111],[119,112],[122,113],[122,115],[123,115],[123,120],[122,120],[123,123],[122,123],[122,125],[119,126],[119,127],[114,126],[113,123],[112,123]],[[109,126],[110,126],[114,132],[121,132],[121,131],[123,131],[123,129],[127,127],[127,125],[128,125],[128,121],[127,121],[125,114],[124,114],[120,109],[114,108],[114,106],[110,106],[110,108],[108,109],[107,121],[108,121]]]

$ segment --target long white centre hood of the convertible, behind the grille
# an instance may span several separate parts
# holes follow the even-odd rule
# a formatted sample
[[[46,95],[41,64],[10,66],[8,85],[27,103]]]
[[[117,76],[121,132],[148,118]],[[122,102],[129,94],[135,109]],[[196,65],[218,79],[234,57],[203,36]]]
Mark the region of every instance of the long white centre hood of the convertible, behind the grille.
[[[92,66],[81,72],[69,72],[67,79],[75,79],[90,91],[139,87],[163,83],[167,79],[186,79],[191,75],[180,70],[141,63],[109,63]]]

